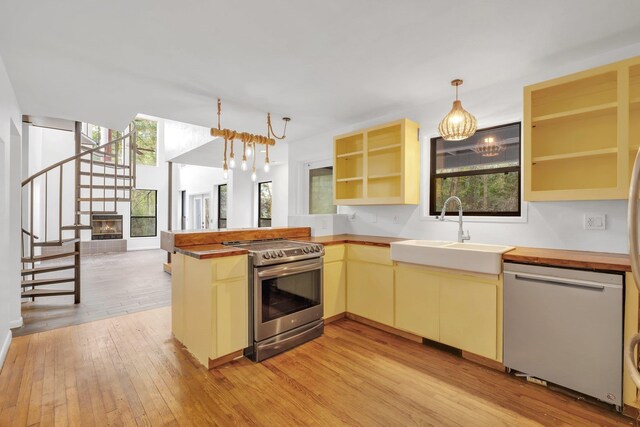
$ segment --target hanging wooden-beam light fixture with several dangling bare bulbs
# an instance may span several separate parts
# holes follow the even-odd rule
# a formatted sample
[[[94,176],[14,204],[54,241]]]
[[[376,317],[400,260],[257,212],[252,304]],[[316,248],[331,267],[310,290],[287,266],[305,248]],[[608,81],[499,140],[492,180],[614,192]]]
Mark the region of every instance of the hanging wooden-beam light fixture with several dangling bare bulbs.
[[[242,162],[240,164],[240,168],[243,171],[247,170],[247,157],[251,157],[253,153],[253,166],[251,168],[251,180],[256,181],[256,144],[264,145],[265,148],[265,158],[264,158],[264,171],[269,172],[269,146],[276,145],[276,140],[283,140],[286,137],[287,133],[287,123],[291,121],[289,117],[283,117],[284,120],[284,130],[282,131],[282,136],[278,136],[273,131],[273,127],[271,126],[271,113],[267,113],[267,136],[264,135],[254,135],[249,132],[238,132],[237,130],[232,129],[222,129],[220,125],[220,116],[222,114],[222,101],[218,98],[218,127],[211,128],[211,136],[224,138],[224,163],[222,165],[222,169],[224,171],[224,178],[227,179],[229,176],[229,169],[234,169],[236,167],[236,159],[235,153],[233,150],[233,143],[237,139],[242,141]],[[229,143],[231,144],[231,153],[229,154],[229,161],[227,162],[227,148]]]

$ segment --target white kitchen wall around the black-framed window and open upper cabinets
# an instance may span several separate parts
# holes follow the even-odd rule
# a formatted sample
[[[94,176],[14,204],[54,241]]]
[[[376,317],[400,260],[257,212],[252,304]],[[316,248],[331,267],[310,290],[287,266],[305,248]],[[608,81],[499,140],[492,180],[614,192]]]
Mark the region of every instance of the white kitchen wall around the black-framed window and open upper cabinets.
[[[640,44],[624,50],[608,52],[598,58],[584,58],[579,62],[558,63],[555,69],[538,70],[531,75],[514,78],[496,87],[473,90],[473,82],[465,82],[461,99],[464,107],[476,115],[479,127],[522,120],[523,86],[549,78],[603,65],[640,54]],[[455,73],[454,73],[455,74]],[[452,77],[462,77],[452,75]],[[427,82],[433,84],[432,82]],[[446,84],[446,82],[442,82]],[[453,97],[453,93],[452,93]],[[354,214],[347,224],[347,231],[355,234],[399,236],[407,238],[447,239],[456,238],[456,224],[441,223],[427,217],[429,179],[429,140],[437,136],[439,120],[451,108],[452,99],[434,100],[411,110],[389,112],[363,123],[336,129],[289,145],[289,201],[291,215],[304,213],[302,206],[307,191],[300,183],[304,165],[310,161],[332,158],[334,135],[353,131],[369,125],[408,117],[421,125],[422,144],[422,200],[419,206],[368,206],[340,207],[340,213]],[[466,219],[465,229],[471,232],[471,241],[501,243],[533,247],[550,247],[590,251],[628,251],[626,235],[626,207],[623,200],[574,201],[525,203],[526,214],[520,221]],[[606,230],[583,230],[584,213],[604,213],[607,216]],[[394,217],[398,216],[398,223]],[[299,223],[299,219],[296,219]],[[314,224],[312,220],[309,224]],[[316,229],[315,234],[320,234]]]

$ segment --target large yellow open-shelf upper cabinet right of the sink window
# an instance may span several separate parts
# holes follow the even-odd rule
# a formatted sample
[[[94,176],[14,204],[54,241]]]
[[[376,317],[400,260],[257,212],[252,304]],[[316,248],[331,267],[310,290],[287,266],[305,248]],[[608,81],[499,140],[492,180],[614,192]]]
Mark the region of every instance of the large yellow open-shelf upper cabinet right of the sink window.
[[[525,87],[525,200],[626,198],[638,118],[640,57]]]

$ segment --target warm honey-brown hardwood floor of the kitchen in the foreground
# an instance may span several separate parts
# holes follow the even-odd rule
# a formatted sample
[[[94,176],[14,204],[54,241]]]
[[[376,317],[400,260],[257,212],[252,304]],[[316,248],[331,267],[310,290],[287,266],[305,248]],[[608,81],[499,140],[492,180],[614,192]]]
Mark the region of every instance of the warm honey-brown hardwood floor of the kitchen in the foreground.
[[[614,412],[351,320],[207,371],[160,308],[14,339],[0,426],[631,425]]]

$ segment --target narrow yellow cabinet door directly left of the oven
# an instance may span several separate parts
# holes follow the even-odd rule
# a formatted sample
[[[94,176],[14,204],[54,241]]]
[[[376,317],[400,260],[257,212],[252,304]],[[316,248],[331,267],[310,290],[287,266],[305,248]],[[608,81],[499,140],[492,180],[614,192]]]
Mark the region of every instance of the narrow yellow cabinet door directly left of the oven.
[[[212,359],[249,345],[246,277],[216,283],[216,348]]]

